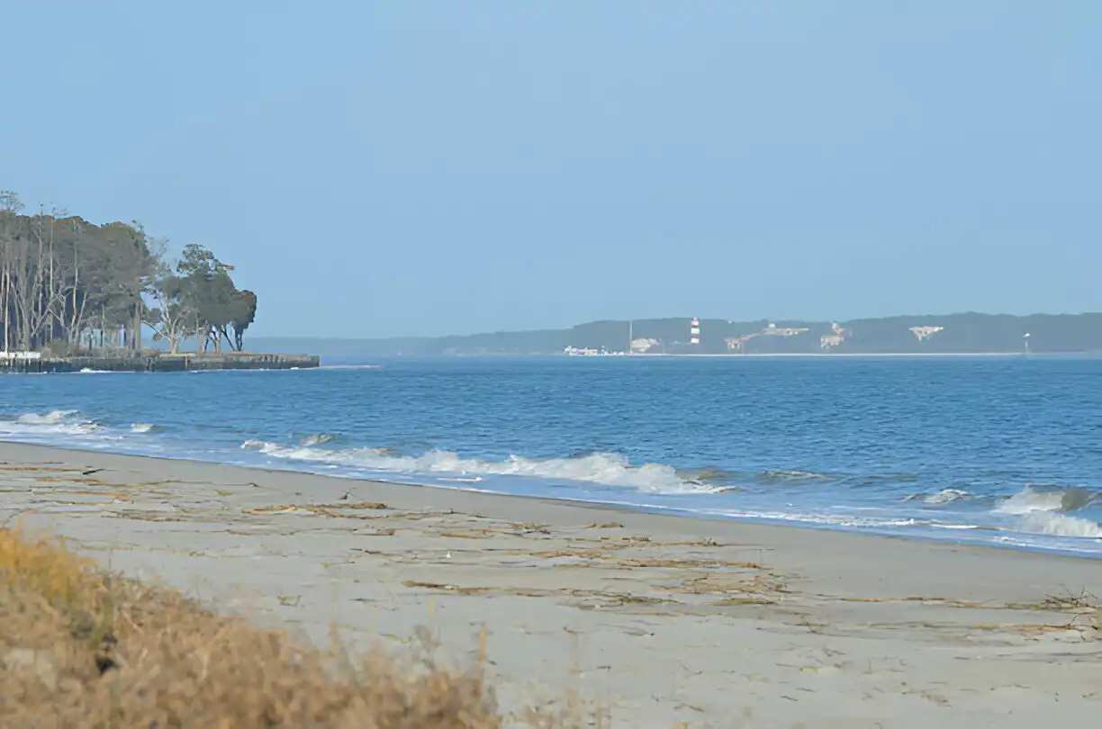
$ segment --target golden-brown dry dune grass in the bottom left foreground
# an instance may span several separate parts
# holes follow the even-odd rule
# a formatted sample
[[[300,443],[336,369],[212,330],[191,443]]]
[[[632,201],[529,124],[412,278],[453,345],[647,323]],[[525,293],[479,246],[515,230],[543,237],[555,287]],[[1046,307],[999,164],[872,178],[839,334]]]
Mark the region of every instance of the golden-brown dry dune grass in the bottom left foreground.
[[[485,729],[480,665],[355,662],[0,529],[0,727]],[[532,726],[563,727],[532,719]]]

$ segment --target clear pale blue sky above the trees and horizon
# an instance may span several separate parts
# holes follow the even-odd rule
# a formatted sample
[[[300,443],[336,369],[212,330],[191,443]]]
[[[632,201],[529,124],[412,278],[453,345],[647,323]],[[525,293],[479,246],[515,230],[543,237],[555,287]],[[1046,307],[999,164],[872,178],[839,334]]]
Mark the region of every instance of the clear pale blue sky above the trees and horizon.
[[[0,188],[256,334],[1102,309],[1098,0],[0,1]]]

